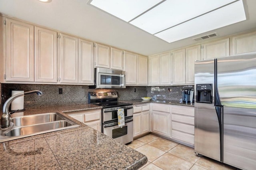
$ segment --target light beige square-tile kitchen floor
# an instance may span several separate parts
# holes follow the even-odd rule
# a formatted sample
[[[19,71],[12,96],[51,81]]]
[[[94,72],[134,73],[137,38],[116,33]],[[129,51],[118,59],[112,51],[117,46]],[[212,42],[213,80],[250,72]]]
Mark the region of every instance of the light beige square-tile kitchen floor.
[[[128,147],[148,157],[140,170],[236,170],[210,158],[196,156],[194,148],[153,134],[134,140]]]

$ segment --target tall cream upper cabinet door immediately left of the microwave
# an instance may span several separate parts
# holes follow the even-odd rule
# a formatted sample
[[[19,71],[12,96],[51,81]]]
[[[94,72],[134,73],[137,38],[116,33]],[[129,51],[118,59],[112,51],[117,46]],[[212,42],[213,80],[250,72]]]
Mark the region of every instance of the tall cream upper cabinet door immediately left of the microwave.
[[[79,39],[78,83],[94,84],[93,42]]]

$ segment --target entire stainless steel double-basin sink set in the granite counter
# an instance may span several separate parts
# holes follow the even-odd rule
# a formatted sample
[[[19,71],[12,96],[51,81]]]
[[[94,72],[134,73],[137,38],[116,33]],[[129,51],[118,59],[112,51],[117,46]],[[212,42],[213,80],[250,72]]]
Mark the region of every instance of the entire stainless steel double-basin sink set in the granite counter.
[[[60,113],[15,117],[11,122],[14,127],[0,130],[0,142],[80,126]]]

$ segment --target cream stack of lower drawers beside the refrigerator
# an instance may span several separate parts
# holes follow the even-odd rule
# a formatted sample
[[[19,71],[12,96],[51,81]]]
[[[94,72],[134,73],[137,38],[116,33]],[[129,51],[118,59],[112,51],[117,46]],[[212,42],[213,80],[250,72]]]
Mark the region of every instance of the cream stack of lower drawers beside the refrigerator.
[[[172,106],[172,138],[194,145],[194,107]]]

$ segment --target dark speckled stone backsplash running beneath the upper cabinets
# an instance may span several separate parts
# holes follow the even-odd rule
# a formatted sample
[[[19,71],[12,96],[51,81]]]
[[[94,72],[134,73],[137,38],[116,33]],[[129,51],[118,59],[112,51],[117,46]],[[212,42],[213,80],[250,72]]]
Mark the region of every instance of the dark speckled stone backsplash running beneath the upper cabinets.
[[[192,89],[194,86],[160,86],[140,87],[126,86],[126,89],[89,89],[87,85],[41,85],[41,84],[7,84],[2,83],[2,104],[11,96],[12,90],[41,90],[44,95],[26,95],[24,108],[50,107],[58,105],[87,104],[88,92],[117,91],[118,101],[140,99],[141,97],[154,97],[158,100],[180,100],[181,91]],[[59,95],[58,89],[62,88],[63,94]],[[136,88],[136,92],[134,92]],[[169,88],[169,91],[168,91]],[[1,88],[0,88],[1,89]]]

